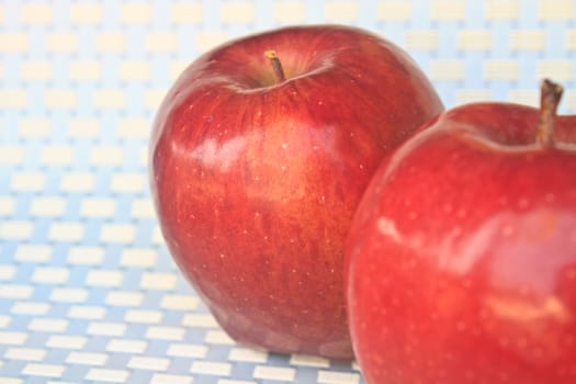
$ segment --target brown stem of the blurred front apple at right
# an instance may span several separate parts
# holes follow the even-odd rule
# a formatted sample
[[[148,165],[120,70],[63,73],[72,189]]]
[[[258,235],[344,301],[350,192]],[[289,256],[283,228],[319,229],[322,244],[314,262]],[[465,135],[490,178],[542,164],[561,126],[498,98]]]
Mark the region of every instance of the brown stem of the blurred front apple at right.
[[[564,89],[561,84],[549,79],[542,81],[537,142],[546,148],[554,146],[554,123],[563,91]]]

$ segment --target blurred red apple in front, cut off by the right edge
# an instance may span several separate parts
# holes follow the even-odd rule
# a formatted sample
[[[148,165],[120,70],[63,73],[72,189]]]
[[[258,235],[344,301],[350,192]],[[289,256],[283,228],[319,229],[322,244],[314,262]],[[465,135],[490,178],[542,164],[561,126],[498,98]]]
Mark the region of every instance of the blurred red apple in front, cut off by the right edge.
[[[346,260],[368,383],[576,383],[576,116],[555,118],[561,93],[544,81],[540,112],[447,111],[382,162]]]

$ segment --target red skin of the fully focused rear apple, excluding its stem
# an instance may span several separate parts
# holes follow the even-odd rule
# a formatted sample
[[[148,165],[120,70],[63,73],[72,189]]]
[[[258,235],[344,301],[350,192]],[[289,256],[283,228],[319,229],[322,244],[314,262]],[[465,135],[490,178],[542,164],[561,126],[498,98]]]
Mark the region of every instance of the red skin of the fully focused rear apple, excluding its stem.
[[[442,110],[406,53],[353,27],[244,37],[183,71],[154,124],[151,192],[170,253],[231,338],[352,358],[353,212],[384,155]]]

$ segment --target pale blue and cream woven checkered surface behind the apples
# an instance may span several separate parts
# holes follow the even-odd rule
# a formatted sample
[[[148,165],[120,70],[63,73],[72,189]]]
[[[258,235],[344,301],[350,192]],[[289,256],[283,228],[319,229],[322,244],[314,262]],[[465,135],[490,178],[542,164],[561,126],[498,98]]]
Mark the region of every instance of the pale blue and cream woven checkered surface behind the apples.
[[[146,147],[163,93],[235,36],[338,22],[408,50],[447,106],[576,112],[576,1],[0,2],[0,383],[362,383],[233,342],[172,263]]]

